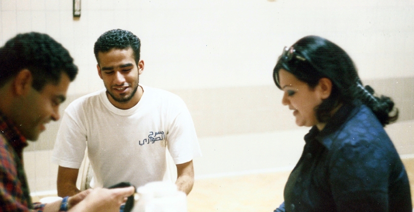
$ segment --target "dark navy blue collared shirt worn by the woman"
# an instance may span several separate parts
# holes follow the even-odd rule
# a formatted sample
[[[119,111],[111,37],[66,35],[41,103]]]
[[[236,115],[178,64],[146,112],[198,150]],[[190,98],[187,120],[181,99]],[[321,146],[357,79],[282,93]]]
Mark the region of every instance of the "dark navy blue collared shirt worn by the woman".
[[[275,212],[412,212],[404,165],[367,106],[342,106],[305,141]]]

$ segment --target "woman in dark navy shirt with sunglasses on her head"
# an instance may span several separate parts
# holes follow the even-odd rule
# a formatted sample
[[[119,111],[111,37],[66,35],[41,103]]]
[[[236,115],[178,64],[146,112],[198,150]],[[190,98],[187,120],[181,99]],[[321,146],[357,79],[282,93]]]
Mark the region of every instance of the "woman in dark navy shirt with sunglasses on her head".
[[[275,212],[411,212],[410,184],[383,127],[392,100],[363,86],[338,45],[306,36],[285,47],[273,72],[298,126],[312,127]]]

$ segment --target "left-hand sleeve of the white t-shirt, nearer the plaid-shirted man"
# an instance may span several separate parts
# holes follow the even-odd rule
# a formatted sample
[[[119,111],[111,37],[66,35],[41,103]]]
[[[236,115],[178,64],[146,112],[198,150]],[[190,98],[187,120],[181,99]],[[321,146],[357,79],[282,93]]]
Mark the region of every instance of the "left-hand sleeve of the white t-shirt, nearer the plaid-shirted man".
[[[65,110],[52,153],[52,162],[62,167],[79,169],[86,149],[83,113],[70,106]]]

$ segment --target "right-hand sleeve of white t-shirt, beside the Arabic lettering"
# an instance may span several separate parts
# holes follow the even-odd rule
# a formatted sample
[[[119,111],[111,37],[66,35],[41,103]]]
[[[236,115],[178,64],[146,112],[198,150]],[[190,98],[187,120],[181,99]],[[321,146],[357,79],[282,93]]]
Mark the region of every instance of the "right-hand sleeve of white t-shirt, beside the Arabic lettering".
[[[175,102],[175,111],[171,111],[172,122],[167,132],[168,150],[175,164],[182,164],[201,156],[193,119],[185,103]]]

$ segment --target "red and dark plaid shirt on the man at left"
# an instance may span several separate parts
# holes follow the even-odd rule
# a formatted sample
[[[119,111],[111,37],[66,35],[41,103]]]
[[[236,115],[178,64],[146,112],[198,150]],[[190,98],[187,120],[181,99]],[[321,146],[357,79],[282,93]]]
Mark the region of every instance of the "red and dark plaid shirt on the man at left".
[[[42,212],[44,204],[32,204],[23,169],[26,138],[0,111],[0,212]]]

